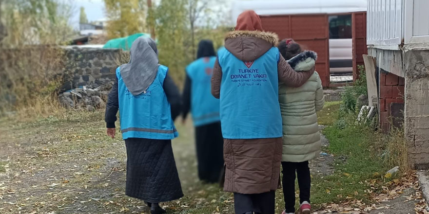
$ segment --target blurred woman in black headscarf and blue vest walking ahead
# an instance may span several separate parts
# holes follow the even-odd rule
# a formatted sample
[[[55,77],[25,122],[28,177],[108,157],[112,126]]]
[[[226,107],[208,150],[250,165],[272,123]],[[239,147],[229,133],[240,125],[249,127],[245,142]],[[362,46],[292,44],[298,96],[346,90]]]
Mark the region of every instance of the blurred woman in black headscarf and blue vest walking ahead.
[[[183,91],[183,120],[191,110],[195,125],[198,177],[206,182],[218,182],[223,169],[219,100],[212,96],[210,87],[215,61],[213,42],[201,40],[197,59],[186,67]]]

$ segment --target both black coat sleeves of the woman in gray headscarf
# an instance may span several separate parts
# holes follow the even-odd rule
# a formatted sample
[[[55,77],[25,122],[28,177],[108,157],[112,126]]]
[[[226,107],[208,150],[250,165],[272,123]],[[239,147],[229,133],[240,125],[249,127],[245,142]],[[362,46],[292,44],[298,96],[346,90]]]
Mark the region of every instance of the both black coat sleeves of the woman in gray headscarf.
[[[181,98],[179,90],[173,79],[167,75],[164,79],[163,89],[167,100],[171,106],[171,117],[173,120],[180,114],[181,110]],[[115,84],[113,84],[112,90],[109,93],[109,97],[106,104],[106,113],[104,115],[104,121],[106,121],[107,128],[115,128],[115,122],[117,120],[116,114],[119,108],[118,91],[117,91],[117,78]]]

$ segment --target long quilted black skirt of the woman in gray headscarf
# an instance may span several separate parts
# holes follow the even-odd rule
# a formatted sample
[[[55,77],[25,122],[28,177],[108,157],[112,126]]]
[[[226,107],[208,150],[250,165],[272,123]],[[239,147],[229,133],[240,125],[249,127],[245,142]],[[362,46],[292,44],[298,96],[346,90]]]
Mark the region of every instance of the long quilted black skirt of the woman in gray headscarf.
[[[183,196],[171,140],[128,138],[125,194],[159,203]]]

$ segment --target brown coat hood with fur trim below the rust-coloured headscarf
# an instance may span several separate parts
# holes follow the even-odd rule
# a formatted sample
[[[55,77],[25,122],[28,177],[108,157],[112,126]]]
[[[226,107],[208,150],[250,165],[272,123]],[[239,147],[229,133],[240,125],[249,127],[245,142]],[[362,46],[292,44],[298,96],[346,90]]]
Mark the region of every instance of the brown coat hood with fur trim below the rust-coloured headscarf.
[[[233,31],[225,38],[225,48],[242,61],[254,61],[278,43],[271,32]]]

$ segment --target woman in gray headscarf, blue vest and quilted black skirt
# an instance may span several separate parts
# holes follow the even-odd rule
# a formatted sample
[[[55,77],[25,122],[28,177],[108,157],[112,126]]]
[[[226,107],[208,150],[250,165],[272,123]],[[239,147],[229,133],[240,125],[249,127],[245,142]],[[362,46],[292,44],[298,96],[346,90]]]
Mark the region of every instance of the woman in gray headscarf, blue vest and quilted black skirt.
[[[171,146],[178,135],[174,119],[180,114],[180,95],[157,54],[154,40],[134,41],[130,62],[116,70],[105,114],[107,135],[115,138],[120,111],[127,147],[125,194],[144,200],[152,214],[165,213],[159,202],[183,196]]]

